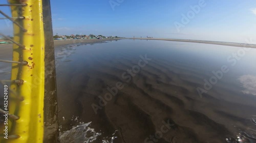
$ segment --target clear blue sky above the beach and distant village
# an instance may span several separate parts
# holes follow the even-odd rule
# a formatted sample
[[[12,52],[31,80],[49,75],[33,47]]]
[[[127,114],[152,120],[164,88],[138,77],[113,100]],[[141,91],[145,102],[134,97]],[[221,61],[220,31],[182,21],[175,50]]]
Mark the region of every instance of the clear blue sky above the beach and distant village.
[[[193,15],[191,7],[200,10]],[[54,35],[150,36],[243,43],[256,37],[255,0],[54,0],[51,8]],[[182,15],[187,14],[192,14],[189,22],[182,23]],[[177,30],[175,23],[183,26]],[[1,20],[0,31],[11,33],[10,24]]]

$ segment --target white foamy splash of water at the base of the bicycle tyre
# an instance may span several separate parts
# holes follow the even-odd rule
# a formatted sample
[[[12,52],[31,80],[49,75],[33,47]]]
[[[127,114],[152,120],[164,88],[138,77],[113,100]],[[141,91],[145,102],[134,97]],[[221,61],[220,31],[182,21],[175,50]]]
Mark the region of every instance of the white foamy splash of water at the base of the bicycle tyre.
[[[86,124],[82,123],[76,127],[73,127],[71,130],[63,132],[59,137],[59,141],[61,143],[89,143],[95,141],[97,137],[101,135],[101,133],[97,133],[94,129],[90,128],[89,126],[91,123],[92,122]],[[114,135],[115,133],[113,133],[110,141],[108,139],[104,139],[102,140],[102,143],[113,143],[114,139],[116,138]]]

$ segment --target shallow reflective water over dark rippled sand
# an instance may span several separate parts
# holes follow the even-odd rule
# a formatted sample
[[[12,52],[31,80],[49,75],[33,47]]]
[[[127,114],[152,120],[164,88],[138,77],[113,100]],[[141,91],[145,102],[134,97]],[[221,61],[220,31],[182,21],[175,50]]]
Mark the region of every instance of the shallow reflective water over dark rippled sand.
[[[255,49],[150,40],[64,49],[55,51],[61,131],[92,122],[96,142],[113,133],[114,142],[255,135]]]

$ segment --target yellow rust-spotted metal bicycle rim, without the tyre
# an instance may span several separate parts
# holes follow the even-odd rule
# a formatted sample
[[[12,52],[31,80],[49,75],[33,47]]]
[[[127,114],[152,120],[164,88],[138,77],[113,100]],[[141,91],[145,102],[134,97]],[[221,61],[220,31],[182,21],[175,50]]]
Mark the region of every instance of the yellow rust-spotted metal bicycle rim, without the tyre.
[[[24,47],[13,44],[13,61],[27,61],[28,65],[12,64],[11,80],[23,80],[12,83],[10,89],[9,112],[19,117],[9,119],[9,137],[6,142],[41,143],[44,139],[44,92],[45,92],[45,35],[41,0],[16,1],[12,6],[14,41]],[[18,23],[18,24],[16,24]],[[22,27],[20,27],[22,26]],[[25,30],[24,30],[25,29]],[[23,99],[15,100],[16,99]],[[15,137],[12,138],[11,135]]]

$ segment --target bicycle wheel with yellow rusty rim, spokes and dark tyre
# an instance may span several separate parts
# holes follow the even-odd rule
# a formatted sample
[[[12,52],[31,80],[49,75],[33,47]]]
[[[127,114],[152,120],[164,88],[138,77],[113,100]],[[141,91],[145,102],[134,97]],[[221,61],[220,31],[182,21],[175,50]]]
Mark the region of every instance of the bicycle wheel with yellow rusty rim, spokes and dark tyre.
[[[56,70],[50,0],[9,0],[13,61],[8,135],[1,142],[58,142]],[[0,112],[7,112],[0,109]]]

